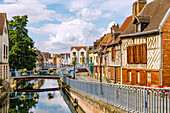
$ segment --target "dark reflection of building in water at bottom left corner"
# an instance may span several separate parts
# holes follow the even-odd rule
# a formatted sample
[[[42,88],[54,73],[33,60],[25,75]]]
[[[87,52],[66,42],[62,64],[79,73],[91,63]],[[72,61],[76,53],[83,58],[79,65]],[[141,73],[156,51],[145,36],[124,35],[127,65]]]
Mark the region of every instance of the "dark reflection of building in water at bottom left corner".
[[[0,113],[8,113],[9,112],[9,95],[0,102]]]

